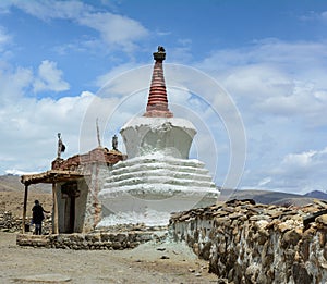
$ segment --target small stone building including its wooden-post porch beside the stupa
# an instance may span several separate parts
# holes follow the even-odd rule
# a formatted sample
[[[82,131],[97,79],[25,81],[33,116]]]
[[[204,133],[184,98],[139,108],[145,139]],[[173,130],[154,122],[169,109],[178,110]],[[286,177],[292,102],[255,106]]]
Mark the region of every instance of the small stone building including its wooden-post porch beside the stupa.
[[[27,200],[27,188],[31,184],[51,183],[53,233],[89,232],[101,219],[98,193],[102,181],[105,176],[108,176],[112,165],[124,158],[120,151],[102,147],[97,147],[84,155],[75,155],[66,160],[57,158],[50,171],[22,176],[22,183],[25,185],[24,203]],[[23,220],[26,215],[26,203],[24,212]],[[23,232],[25,231],[24,223]]]

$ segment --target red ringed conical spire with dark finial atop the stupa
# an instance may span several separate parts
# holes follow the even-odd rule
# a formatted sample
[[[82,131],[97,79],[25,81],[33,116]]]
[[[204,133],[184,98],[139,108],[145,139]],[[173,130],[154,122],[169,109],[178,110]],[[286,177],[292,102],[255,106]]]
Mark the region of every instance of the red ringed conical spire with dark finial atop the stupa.
[[[143,116],[147,118],[172,118],[172,112],[168,109],[168,99],[166,91],[166,83],[164,76],[162,61],[166,59],[164,47],[158,47],[158,52],[154,53],[156,60],[152,86],[149,89],[146,112]]]

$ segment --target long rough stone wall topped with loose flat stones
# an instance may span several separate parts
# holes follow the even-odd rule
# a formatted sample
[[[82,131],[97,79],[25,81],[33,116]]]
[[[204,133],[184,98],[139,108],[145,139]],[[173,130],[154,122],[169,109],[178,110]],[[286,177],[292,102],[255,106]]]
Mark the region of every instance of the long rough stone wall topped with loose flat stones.
[[[226,283],[327,283],[327,214],[303,226],[322,209],[233,200],[173,214],[169,233]]]

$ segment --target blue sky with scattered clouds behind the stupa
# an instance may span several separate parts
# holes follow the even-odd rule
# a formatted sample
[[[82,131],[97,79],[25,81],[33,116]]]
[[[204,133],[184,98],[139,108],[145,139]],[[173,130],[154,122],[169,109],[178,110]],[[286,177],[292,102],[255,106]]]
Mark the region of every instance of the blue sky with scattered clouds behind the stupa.
[[[85,118],[97,97],[110,147],[126,120],[143,113],[152,53],[161,45],[171,108],[201,127],[192,155],[217,185],[234,166],[233,140],[246,147],[239,188],[327,190],[326,44],[326,1],[1,1],[0,174],[48,170],[58,132],[63,158],[96,147],[94,118]],[[181,83],[173,64],[190,75],[184,89],[173,88]],[[194,86],[201,74],[233,101],[245,143],[226,127],[226,101],[217,115],[215,97],[202,97],[209,84],[203,94]],[[124,76],[129,92],[125,82],[99,91]],[[133,87],[138,96],[130,96]]]

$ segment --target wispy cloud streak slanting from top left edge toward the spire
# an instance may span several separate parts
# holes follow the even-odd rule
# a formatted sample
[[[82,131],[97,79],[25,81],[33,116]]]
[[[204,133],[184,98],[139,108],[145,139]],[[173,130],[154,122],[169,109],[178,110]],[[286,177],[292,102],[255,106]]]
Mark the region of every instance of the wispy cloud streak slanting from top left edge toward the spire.
[[[110,12],[98,12],[80,1],[13,1],[13,5],[43,21],[71,20],[97,30],[104,42],[113,49],[131,52],[135,42],[149,32],[137,21]]]

